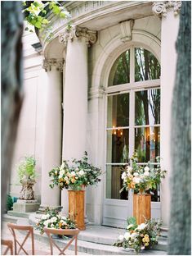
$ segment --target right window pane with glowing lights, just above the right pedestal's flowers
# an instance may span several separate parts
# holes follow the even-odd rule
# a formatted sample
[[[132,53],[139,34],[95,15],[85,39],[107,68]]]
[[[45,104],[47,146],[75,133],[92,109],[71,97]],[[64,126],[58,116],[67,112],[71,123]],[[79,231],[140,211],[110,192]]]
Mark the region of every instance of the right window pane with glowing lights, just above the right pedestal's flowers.
[[[139,162],[157,162],[160,156],[160,127],[135,128],[135,149]]]

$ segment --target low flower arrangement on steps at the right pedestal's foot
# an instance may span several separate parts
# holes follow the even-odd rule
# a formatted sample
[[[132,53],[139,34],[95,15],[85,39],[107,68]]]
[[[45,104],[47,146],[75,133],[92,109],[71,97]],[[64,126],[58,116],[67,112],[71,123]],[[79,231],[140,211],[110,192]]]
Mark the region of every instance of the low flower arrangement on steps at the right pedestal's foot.
[[[136,218],[130,217],[127,223],[127,232],[118,236],[114,246],[131,248],[139,253],[141,249],[150,249],[153,245],[158,244],[161,221],[147,220],[145,223],[137,225]]]

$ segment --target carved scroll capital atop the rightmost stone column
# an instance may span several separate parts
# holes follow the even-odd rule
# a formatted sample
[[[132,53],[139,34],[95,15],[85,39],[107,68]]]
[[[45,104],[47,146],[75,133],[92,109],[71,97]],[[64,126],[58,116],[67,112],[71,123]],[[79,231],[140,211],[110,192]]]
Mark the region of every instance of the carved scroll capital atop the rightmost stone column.
[[[155,15],[166,17],[167,11],[174,11],[174,14],[177,15],[181,9],[181,1],[161,1],[154,2],[152,11]]]

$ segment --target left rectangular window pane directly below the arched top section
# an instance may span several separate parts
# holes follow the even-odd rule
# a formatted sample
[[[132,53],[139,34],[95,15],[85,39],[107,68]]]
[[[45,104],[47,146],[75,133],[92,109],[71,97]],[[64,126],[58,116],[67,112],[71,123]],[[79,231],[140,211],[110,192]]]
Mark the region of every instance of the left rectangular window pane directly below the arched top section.
[[[108,97],[107,127],[129,126],[129,94]]]

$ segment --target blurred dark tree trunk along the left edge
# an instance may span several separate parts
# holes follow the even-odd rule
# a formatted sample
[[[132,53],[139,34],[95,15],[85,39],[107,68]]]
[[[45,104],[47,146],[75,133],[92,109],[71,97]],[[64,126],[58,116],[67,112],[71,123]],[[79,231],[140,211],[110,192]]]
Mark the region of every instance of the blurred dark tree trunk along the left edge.
[[[2,1],[2,213],[22,104],[22,2]]]

